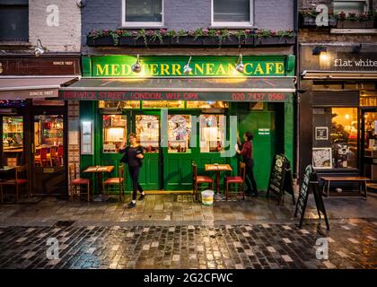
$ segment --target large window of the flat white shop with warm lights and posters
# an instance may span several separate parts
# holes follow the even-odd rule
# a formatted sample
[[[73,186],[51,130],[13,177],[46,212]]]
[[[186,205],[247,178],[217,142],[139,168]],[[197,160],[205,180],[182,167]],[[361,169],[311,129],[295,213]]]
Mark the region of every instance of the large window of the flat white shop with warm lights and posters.
[[[313,109],[313,166],[357,168],[357,109]]]

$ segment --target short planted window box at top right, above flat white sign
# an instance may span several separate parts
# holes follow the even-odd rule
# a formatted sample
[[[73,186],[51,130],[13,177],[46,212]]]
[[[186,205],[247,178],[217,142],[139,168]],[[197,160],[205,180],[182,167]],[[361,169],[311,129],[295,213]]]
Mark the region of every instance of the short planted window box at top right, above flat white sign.
[[[340,29],[372,29],[374,25],[373,13],[345,13],[337,15]]]

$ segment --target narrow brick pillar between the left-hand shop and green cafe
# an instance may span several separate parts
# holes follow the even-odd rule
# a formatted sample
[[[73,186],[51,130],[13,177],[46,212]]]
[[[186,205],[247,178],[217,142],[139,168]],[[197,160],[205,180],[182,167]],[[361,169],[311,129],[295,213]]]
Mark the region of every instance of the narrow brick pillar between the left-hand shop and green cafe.
[[[68,100],[68,167],[75,164],[78,175],[80,174],[79,110],[78,100]]]

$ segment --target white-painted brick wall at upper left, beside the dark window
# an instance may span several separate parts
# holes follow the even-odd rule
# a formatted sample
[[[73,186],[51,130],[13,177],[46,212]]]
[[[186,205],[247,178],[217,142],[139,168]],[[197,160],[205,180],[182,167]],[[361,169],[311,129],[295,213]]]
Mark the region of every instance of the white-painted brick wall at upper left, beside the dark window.
[[[58,8],[59,26],[48,26],[48,5]],[[49,52],[79,52],[81,48],[81,9],[75,0],[29,0],[29,40],[37,39]]]

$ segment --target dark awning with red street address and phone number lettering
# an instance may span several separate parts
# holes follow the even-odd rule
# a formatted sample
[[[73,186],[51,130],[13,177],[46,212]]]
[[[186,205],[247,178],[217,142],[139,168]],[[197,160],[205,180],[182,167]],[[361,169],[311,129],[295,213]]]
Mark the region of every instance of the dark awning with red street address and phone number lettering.
[[[59,99],[290,101],[294,91],[294,77],[82,78]]]

